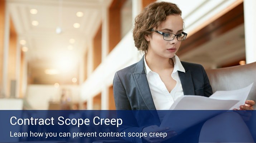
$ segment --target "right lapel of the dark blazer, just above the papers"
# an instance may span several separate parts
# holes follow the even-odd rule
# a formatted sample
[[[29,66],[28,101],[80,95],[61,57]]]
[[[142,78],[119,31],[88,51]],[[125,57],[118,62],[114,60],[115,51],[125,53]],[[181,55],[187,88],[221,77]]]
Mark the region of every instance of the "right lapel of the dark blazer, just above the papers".
[[[180,71],[178,72],[184,95],[195,95],[190,70],[186,70],[185,73]]]

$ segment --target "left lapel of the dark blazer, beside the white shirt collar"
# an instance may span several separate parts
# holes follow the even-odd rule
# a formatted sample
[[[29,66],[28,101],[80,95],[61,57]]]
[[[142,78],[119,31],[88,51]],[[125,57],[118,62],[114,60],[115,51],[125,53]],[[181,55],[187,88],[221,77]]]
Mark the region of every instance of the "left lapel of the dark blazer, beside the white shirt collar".
[[[155,104],[149,89],[148,80],[146,77],[146,73],[144,70],[144,56],[142,59],[137,63],[135,68],[135,72],[133,73],[136,86],[139,89],[140,96],[142,97],[143,101],[145,102],[146,106],[149,110],[156,110]]]

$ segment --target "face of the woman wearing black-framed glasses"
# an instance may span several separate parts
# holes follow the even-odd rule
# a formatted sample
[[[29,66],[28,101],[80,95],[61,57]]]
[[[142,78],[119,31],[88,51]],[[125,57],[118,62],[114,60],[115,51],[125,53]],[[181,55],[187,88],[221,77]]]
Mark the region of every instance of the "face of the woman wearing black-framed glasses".
[[[158,26],[154,27],[154,30],[173,33],[175,35],[180,34],[183,31],[183,20],[180,15],[166,16],[165,21]],[[151,35],[145,36],[148,41],[148,52],[151,56],[160,56],[163,58],[172,58],[178,51],[181,41],[177,40],[177,36],[172,41],[166,41],[163,39],[163,35],[157,32],[153,32]]]

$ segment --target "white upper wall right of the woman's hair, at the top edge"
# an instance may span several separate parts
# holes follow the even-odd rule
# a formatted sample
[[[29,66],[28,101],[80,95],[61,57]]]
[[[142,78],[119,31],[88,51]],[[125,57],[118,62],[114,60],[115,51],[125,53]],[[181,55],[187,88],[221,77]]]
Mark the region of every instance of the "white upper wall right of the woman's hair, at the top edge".
[[[194,32],[211,23],[225,12],[228,6],[239,0],[164,0],[177,4],[182,10],[185,32]],[[211,19],[211,21],[209,21]]]

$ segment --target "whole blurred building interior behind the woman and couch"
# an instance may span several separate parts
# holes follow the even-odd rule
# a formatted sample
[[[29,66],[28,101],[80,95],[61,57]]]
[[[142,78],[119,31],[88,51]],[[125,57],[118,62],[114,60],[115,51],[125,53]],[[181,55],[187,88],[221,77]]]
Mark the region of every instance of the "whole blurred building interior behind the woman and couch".
[[[113,76],[143,56],[132,27],[153,1],[0,0],[0,109],[115,110]],[[255,0],[164,1],[183,13],[181,60],[256,61]]]

